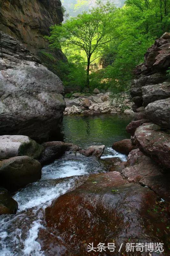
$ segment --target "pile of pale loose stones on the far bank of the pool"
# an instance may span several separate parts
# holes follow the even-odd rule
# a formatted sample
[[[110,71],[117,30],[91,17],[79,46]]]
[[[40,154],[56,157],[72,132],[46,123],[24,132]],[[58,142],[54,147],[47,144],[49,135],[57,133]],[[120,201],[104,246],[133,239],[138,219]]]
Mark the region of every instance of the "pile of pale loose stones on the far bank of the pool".
[[[65,98],[66,108],[64,115],[72,114],[116,114],[117,112],[122,112],[121,105],[117,106],[116,101],[110,100],[110,92],[100,93],[100,91],[95,88],[94,94],[91,96],[85,96],[81,93],[74,93],[73,99]],[[131,102],[129,99],[125,99],[124,103],[127,109],[124,111],[125,114],[133,114],[131,109]]]

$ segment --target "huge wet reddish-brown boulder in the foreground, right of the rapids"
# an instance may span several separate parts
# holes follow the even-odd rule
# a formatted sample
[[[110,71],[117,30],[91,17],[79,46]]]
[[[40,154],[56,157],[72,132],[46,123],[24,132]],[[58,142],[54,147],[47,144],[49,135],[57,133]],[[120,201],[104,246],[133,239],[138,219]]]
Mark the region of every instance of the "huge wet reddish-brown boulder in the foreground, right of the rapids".
[[[99,243],[106,246],[115,243],[114,253],[106,248],[99,255],[122,255],[129,239],[130,243],[138,243],[140,237],[140,243],[166,244],[168,234],[164,230],[169,218],[158,200],[152,190],[128,183],[119,172],[93,174],[79,188],[60,196],[46,208],[46,224],[51,233],[67,241],[76,255],[89,255],[89,243],[94,243],[94,247]],[[160,219],[164,220],[161,225]],[[54,250],[55,247],[58,247],[57,240]],[[135,250],[129,255],[139,254]]]

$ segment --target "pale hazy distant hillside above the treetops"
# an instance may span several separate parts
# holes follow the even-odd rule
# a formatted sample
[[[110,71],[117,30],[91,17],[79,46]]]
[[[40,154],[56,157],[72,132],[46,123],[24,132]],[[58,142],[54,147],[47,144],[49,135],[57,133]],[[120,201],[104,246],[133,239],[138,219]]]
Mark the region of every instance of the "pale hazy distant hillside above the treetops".
[[[96,0],[61,0],[62,5],[66,8],[66,13],[69,16],[77,16],[83,11],[87,11],[90,7],[95,6]],[[107,3],[107,0],[103,0],[103,3]],[[122,7],[125,0],[110,0],[116,7]]]

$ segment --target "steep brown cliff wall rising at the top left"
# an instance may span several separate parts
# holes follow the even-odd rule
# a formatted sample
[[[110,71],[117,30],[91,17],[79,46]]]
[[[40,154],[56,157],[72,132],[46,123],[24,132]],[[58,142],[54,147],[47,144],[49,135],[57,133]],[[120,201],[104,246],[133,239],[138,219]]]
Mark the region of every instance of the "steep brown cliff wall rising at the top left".
[[[61,50],[50,51],[44,38],[51,25],[62,21],[60,0],[0,0],[0,29],[25,44],[43,63],[67,60]],[[48,53],[54,58],[48,58]]]

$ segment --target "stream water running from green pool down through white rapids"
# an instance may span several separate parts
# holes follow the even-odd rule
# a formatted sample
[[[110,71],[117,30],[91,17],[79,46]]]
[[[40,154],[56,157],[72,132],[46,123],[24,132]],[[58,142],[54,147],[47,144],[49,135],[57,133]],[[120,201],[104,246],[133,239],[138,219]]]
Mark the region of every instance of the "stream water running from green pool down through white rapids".
[[[65,116],[65,141],[86,148],[106,146],[101,158],[126,156],[111,148],[116,140],[129,138],[125,131],[129,116]],[[45,228],[44,211],[60,195],[79,186],[91,173],[106,172],[102,161],[95,157],[66,152],[63,157],[42,168],[40,181],[19,190],[13,198],[18,202],[16,215],[0,216],[1,256],[40,256],[41,245],[36,241],[40,228]]]

